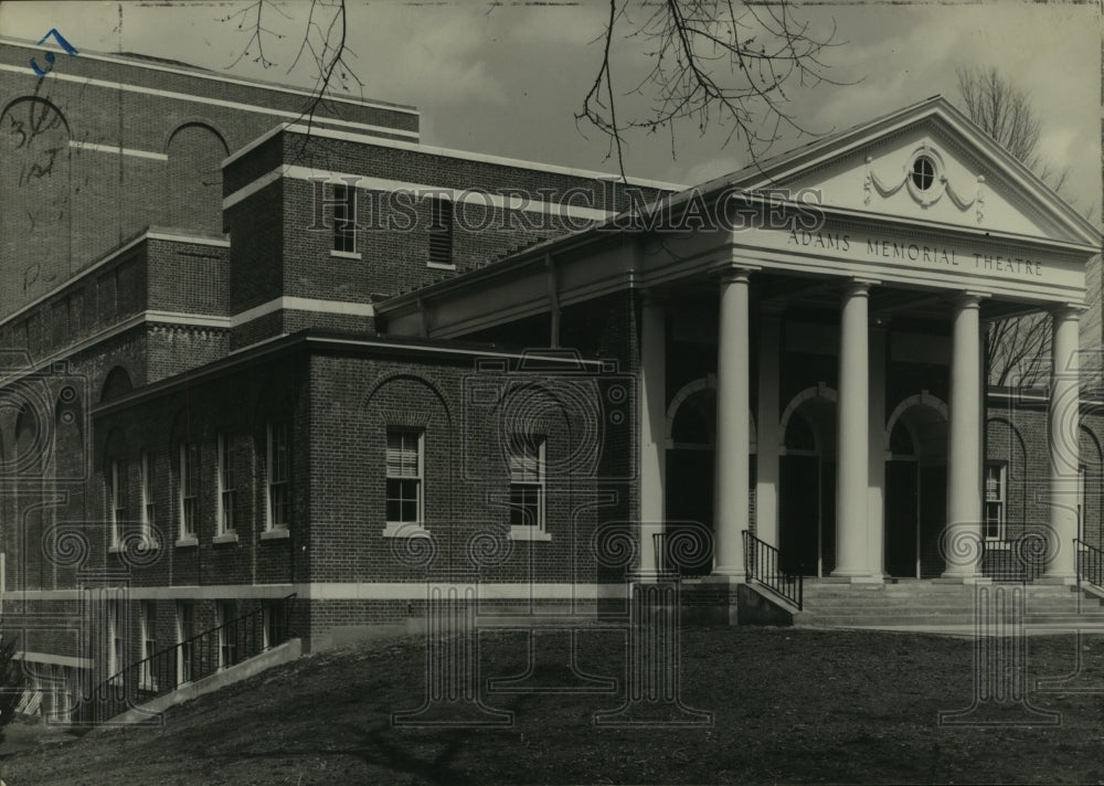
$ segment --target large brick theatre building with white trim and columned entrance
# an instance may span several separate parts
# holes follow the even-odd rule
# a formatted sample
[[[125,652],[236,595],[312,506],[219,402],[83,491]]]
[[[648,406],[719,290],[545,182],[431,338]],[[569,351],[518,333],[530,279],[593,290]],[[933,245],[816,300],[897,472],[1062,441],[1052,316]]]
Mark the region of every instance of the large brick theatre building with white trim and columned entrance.
[[[681,190],[35,54],[0,42],[0,564],[55,713],[254,612],[406,630],[436,577],[593,610],[677,555],[728,617],[745,530],[849,582],[1102,545],[1098,234],[942,98]],[[1040,311],[1074,364],[986,397],[981,322]]]

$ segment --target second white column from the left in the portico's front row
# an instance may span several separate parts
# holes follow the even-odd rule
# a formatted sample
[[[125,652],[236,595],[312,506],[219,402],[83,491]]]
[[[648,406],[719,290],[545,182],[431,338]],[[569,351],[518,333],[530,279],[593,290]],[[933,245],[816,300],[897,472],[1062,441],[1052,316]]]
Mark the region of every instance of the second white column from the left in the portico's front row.
[[[874,574],[867,546],[867,485],[870,481],[869,289],[870,284],[866,282],[849,284],[843,290],[840,314],[836,570],[832,575],[852,581],[870,580]]]

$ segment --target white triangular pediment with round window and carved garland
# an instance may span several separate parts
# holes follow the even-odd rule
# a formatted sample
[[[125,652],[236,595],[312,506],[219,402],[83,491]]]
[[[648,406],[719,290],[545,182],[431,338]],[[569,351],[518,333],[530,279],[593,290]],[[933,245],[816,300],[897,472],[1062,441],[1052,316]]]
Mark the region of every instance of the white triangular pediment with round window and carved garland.
[[[744,170],[826,209],[1098,245],[1095,226],[941,96]]]

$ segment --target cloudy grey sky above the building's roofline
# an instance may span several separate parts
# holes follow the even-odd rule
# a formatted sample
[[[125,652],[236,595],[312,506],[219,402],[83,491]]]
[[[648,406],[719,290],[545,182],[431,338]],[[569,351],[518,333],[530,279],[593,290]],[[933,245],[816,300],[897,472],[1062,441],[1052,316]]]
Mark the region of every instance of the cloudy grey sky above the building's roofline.
[[[40,39],[57,28],[77,49],[141,52],[215,71],[312,84],[309,64],[288,72],[302,38],[307,2],[265,6],[265,40],[277,65],[251,54],[248,3],[2,2],[0,34]],[[255,6],[253,7],[255,9]],[[608,6],[577,3],[349,0],[349,44],[368,97],[422,111],[429,145],[586,169],[616,169],[601,134],[575,114],[594,79]],[[643,21],[636,0],[627,22]],[[956,96],[955,66],[997,67],[1025,91],[1042,119],[1041,151],[1070,169],[1066,194],[1082,212],[1101,205],[1101,25],[1093,6],[835,3],[798,7],[817,35],[835,28],[825,72],[841,85],[788,92],[787,111],[813,131],[831,131],[942,93]],[[629,31],[625,26],[624,32]],[[626,93],[648,63],[639,38],[618,38],[615,86]],[[235,61],[236,64],[235,64]],[[625,113],[638,108],[624,99]],[[630,176],[693,183],[747,162],[729,129],[693,126],[628,139]],[[787,136],[781,152],[809,137]]]

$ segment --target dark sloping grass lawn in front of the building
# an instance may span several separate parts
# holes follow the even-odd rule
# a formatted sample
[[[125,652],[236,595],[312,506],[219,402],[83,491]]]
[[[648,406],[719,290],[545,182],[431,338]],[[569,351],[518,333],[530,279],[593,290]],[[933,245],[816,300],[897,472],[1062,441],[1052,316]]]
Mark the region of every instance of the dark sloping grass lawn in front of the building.
[[[624,676],[617,633],[580,665]],[[480,639],[481,676],[520,672],[526,635]],[[552,639],[538,639],[544,657]],[[1068,673],[1072,636],[1032,638],[1029,678]],[[1083,642],[1104,688],[1104,639]],[[52,734],[2,762],[9,786],[219,784],[1104,783],[1104,691],[1031,693],[1059,725],[940,726],[972,703],[973,642],[912,634],[687,628],[683,702],[711,725],[607,727],[624,689],[486,697],[512,726],[396,727],[425,693],[424,642],[330,650],[177,708],[158,727]],[[554,666],[537,682],[562,684]],[[1087,684],[1087,678],[1084,682]],[[1000,708],[998,708],[1000,710]],[[1004,709],[983,720],[1030,719]],[[17,729],[9,748],[25,737]]]

